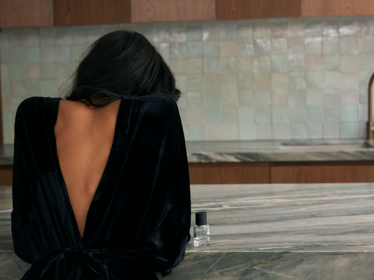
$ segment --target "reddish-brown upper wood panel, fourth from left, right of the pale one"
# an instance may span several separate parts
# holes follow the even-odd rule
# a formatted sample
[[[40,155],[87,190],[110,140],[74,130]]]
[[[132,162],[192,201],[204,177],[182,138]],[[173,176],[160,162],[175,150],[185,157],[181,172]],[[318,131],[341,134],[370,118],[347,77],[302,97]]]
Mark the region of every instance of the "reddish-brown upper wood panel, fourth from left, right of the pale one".
[[[217,19],[282,18],[301,15],[300,0],[217,1]]]

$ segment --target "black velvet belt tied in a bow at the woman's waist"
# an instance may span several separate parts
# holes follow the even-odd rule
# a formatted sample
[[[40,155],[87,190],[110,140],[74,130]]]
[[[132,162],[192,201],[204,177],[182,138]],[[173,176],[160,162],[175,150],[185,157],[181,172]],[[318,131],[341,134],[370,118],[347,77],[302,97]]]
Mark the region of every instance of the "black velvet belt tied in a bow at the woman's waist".
[[[103,258],[100,258],[100,256],[103,256]],[[100,260],[108,257],[137,259],[138,253],[117,249],[77,250],[65,248],[62,251],[57,251],[53,255],[47,256],[41,261],[35,262],[22,279],[32,275],[35,279],[49,280],[52,276],[51,273],[53,273],[54,279],[60,279],[66,273],[65,264],[73,262],[81,264],[82,267],[89,268],[89,270],[97,275],[96,279],[115,280],[113,275],[108,271],[108,267]]]

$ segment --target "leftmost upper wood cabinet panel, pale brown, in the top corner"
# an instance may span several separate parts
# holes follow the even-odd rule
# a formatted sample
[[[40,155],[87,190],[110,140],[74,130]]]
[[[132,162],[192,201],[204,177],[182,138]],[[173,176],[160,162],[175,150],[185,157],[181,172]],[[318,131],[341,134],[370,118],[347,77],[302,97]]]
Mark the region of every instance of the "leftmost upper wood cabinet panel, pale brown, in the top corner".
[[[52,5],[52,0],[0,0],[0,28],[52,26]]]

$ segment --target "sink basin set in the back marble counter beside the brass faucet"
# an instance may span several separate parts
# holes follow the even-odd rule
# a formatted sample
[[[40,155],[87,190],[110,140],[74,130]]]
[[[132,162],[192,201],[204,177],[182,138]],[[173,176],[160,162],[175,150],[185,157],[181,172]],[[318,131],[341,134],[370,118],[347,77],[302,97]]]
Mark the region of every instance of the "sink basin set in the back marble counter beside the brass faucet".
[[[361,143],[330,143],[330,142],[286,142],[279,145],[281,150],[357,150],[374,148],[373,144],[368,142]]]

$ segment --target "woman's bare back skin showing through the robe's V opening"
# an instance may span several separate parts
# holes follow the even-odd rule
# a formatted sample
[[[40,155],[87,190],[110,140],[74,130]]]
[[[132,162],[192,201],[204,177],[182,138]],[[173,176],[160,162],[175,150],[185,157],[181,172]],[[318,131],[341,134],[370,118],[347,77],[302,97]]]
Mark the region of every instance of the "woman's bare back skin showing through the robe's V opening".
[[[83,237],[87,212],[107,164],[121,100],[104,107],[60,100],[55,136],[57,156]]]

